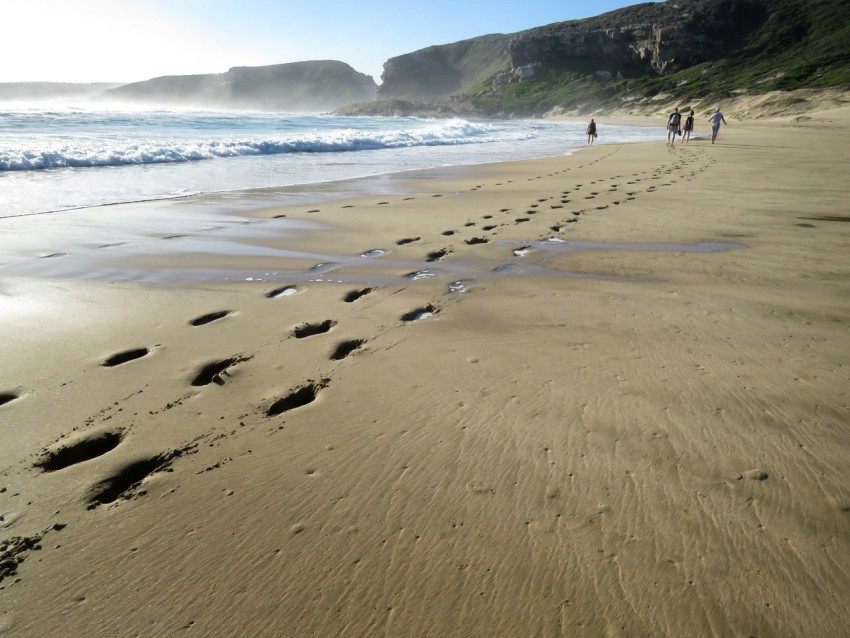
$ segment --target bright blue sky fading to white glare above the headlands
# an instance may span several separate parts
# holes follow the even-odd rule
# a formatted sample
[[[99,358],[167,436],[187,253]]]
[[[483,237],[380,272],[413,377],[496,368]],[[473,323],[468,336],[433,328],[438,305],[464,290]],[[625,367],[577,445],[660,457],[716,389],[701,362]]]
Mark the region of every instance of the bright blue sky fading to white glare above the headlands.
[[[131,82],[341,60],[380,82],[391,57],[637,4],[623,0],[3,0],[0,82]]]

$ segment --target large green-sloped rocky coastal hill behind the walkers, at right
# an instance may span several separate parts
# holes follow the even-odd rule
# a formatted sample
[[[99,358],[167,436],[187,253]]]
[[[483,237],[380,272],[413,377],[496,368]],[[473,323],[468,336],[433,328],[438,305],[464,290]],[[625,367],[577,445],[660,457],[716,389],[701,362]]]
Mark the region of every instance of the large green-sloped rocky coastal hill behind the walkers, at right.
[[[382,100],[499,117],[651,113],[772,92],[784,95],[768,111],[805,111],[805,98],[785,93],[850,89],[850,3],[642,3],[398,56],[382,80]]]

